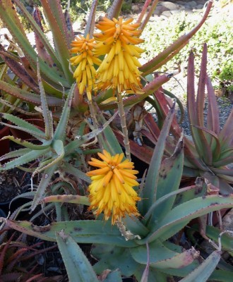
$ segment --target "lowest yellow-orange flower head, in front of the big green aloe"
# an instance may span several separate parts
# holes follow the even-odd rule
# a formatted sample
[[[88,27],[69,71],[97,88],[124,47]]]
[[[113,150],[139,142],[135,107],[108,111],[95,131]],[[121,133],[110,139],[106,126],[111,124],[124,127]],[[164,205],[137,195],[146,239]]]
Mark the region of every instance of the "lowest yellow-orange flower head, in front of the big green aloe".
[[[88,188],[89,209],[95,209],[96,216],[104,212],[106,221],[112,216],[112,224],[126,214],[139,216],[136,202],[141,198],[133,190],[133,186],[139,185],[135,176],[138,171],[133,170],[133,163],[129,159],[122,161],[123,153],[111,156],[104,150],[98,156],[102,161],[94,158],[89,161],[91,166],[99,168],[87,173],[92,180]]]

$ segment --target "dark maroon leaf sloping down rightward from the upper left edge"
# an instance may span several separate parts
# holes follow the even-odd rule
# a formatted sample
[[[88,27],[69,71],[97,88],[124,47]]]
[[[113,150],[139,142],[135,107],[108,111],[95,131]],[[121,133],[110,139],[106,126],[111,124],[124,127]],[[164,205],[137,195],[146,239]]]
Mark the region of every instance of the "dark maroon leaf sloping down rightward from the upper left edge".
[[[17,61],[11,59],[11,57],[8,56],[8,52],[6,52],[4,49],[1,49],[0,56],[4,60],[6,65],[9,68],[11,68],[11,71],[13,71],[13,73],[18,76],[18,78],[20,78],[26,85],[28,85],[30,88],[32,88],[32,90],[34,90],[37,94],[40,93],[40,91],[38,89],[37,83],[25,71],[25,68],[23,68],[20,63],[18,63]]]

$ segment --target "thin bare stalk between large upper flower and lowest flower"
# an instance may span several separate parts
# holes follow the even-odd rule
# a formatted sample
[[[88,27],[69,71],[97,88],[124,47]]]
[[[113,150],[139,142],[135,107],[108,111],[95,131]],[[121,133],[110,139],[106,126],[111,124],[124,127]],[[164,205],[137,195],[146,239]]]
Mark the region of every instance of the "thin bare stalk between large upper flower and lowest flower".
[[[119,116],[121,118],[121,128],[122,133],[124,137],[124,146],[126,149],[126,158],[131,161],[131,155],[130,155],[130,147],[129,147],[129,136],[128,136],[128,129],[126,125],[126,114],[124,112],[124,105],[123,105],[123,99],[121,96],[121,93],[117,91],[117,106],[119,109]]]

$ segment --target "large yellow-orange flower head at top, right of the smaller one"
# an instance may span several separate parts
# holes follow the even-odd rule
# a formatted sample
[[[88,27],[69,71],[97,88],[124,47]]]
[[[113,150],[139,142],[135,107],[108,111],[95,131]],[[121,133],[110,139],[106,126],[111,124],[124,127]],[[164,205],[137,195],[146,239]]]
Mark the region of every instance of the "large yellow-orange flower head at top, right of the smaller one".
[[[101,90],[113,88],[119,93],[124,90],[142,93],[138,58],[144,50],[135,45],[144,40],[138,38],[142,32],[137,30],[140,24],[132,21],[132,18],[125,22],[123,18],[100,18],[96,24],[102,32],[94,35],[95,55],[107,54],[97,70],[97,87]]]

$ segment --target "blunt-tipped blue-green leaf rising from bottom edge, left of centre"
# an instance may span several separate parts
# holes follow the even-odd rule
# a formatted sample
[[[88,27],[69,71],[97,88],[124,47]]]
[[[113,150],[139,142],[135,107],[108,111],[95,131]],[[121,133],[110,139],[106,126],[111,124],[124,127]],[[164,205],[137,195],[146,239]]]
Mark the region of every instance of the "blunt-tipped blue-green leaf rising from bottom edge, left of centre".
[[[56,242],[66,266],[69,281],[99,281],[87,257],[70,235],[64,231],[56,232]]]

